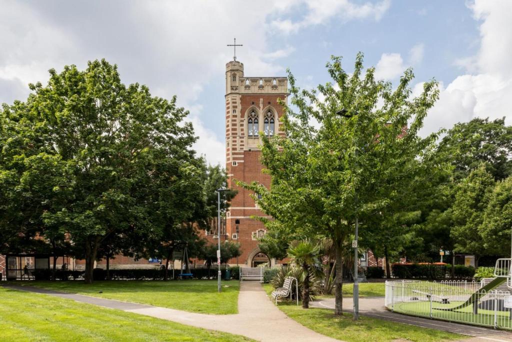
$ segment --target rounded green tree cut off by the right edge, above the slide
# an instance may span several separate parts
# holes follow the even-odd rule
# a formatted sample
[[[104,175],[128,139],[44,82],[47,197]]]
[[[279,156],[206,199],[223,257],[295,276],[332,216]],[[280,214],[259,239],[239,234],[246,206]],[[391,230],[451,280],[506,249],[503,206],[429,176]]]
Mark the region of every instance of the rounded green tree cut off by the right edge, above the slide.
[[[494,255],[510,255],[512,229],[512,176],[498,182],[489,195],[479,232],[487,251]]]

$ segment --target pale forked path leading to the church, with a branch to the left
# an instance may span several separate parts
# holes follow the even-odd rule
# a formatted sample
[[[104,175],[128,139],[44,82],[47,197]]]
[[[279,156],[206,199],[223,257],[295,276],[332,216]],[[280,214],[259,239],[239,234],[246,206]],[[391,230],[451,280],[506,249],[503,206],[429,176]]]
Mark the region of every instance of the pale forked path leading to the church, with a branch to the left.
[[[7,287],[7,286],[6,286]],[[134,312],[141,315],[172,320],[198,328],[224,331],[253,338],[259,341],[324,342],[336,339],[318,334],[291,318],[275,307],[257,281],[243,281],[238,297],[238,314],[206,315],[180,310],[153,307],[123,301],[63,293],[29,286],[8,286],[13,289],[44,293],[82,303],[106,308]]]

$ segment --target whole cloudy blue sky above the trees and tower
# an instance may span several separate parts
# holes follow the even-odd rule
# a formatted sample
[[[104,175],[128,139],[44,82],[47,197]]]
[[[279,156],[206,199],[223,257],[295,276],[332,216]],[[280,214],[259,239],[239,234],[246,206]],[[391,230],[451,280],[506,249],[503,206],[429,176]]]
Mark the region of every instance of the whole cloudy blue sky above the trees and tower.
[[[329,82],[325,64],[357,52],[379,78],[416,75],[413,95],[435,78],[440,98],[422,134],[474,117],[512,125],[512,1],[8,1],[0,0],[0,103],[25,100],[48,70],[105,58],[121,81],[189,110],[198,153],[225,163],[225,64],[246,76],[285,76],[297,86]]]

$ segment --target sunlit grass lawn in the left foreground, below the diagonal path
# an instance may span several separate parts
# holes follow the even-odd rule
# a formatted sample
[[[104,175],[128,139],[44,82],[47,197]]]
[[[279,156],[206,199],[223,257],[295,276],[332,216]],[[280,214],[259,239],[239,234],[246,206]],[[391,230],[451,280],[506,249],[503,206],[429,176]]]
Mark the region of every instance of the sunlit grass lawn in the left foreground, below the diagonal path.
[[[74,300],[0,287],[2,341],[247,341]]]

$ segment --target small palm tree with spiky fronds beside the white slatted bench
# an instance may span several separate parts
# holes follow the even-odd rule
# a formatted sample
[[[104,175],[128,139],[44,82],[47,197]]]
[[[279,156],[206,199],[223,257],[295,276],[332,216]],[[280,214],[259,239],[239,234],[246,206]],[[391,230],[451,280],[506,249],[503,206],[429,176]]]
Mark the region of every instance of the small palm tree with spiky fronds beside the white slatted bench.
[[[302,307],[309,308],[310,277],[315,273],[315,267],[319,265],[319,248],[310,240],[303,240],[290,245],[288,257],[297,267],[302,268],[304,280],[302,281]],[[298,294],[297,294],[298,295]]]

